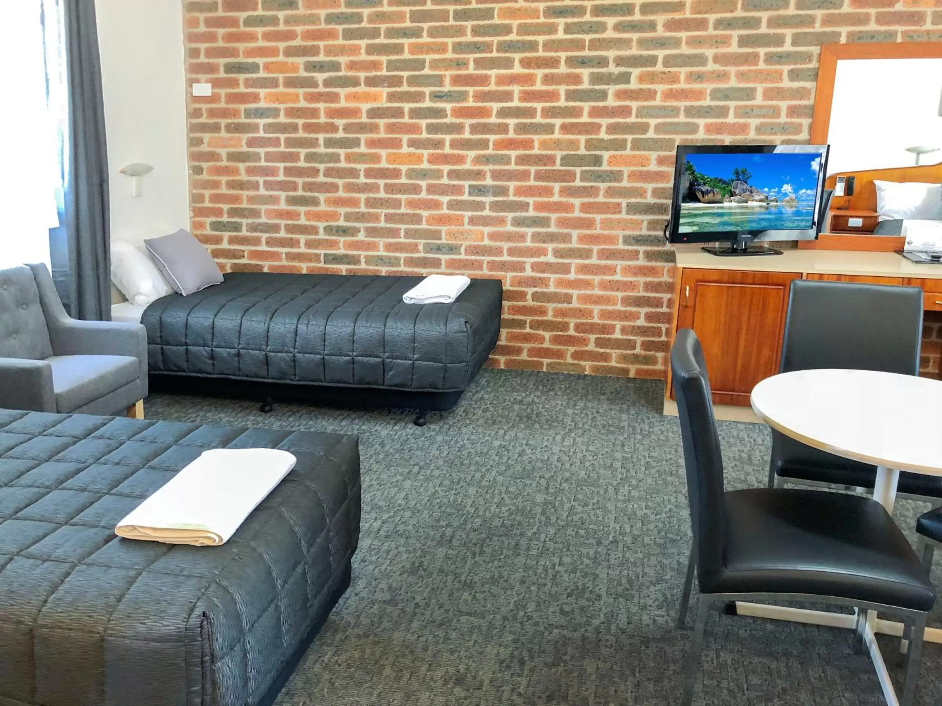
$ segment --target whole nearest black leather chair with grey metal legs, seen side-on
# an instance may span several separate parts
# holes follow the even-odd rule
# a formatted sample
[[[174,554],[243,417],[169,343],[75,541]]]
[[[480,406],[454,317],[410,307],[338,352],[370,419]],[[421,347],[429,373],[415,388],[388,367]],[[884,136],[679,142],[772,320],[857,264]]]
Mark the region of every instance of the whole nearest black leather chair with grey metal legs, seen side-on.
[[[885,507],[860,495],[813,489],[723,488],[723,457],[707,367],[691,329],[671,351],[687,467],[693,543],[678,625],[696,573],[700,602],[684,675],[693,698],[709,607],[714,602],[829,602],[858,609],[855,648],[863,650],[867,610],[910,623],[900,703],[916,694],[926,615],[935,602],[929,576]]]

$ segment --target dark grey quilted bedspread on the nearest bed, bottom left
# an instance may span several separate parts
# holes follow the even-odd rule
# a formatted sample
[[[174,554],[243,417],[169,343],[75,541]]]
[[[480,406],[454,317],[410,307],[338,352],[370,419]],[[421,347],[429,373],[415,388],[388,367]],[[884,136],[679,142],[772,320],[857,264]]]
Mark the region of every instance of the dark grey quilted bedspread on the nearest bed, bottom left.
[[[114,527],[205,449],[298,463],[221,547]],[[244,706],[349,576],[353,437],[0,409],[0,705]]]

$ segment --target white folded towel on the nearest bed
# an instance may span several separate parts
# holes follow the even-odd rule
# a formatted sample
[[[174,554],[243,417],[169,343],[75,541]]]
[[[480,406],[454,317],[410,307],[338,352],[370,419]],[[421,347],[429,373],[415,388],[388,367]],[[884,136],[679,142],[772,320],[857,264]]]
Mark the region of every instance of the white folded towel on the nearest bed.
[[[279,449],[211,449],[115,527],[128,539],[219,546],[294,468]]]

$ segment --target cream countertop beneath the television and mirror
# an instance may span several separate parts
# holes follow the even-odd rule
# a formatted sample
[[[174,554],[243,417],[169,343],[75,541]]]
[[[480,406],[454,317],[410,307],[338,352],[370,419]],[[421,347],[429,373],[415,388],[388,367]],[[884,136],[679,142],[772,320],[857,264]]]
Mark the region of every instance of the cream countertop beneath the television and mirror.
[[[775,246],[774,243],[762,245]],[[942,265],[916,265],[895,252],[854,250],[785,250],[781,255],[718,257],[698,245],[673,246],[678,267],[756,272],[801,272],[870,277],[915,277],[942,280]]]

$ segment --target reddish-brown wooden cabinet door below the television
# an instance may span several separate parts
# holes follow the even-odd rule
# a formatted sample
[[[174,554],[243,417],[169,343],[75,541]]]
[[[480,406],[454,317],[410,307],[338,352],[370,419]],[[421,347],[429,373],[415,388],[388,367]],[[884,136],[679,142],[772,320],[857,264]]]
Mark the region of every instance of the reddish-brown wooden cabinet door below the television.
[[[682,270],[677,329],[693,329],[700,339],[715,404],[748,407],[755,384],[778,372],[788,290],[801,278],[792,272]]]

